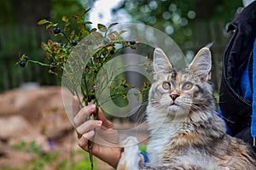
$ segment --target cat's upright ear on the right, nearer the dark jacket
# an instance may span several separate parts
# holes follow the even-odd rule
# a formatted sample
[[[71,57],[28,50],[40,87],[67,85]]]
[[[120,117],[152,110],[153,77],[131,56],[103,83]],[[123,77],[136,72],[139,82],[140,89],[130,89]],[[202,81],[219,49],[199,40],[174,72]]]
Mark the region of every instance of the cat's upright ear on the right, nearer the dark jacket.
[[[205,81],[211,79],[212,56],[209,48],[201,48],[195,55],[189,70]]]

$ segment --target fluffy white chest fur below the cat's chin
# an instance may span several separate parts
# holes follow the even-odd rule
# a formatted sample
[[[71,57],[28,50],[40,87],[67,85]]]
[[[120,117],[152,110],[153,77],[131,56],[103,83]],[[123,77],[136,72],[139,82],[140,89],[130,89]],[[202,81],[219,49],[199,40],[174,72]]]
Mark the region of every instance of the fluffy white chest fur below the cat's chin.
[[[152,167],[163,164],[163,153],[166,150],[166,144],[170,143],[174,135],[177,133],[189,133],[194,129],[194,127],[184,122],[184,118],[180,119],[177,116],[170,117],[168,114],[163,113],[165,111],[148,107],[150,139],[148,141],[147,152],[150,166]]]

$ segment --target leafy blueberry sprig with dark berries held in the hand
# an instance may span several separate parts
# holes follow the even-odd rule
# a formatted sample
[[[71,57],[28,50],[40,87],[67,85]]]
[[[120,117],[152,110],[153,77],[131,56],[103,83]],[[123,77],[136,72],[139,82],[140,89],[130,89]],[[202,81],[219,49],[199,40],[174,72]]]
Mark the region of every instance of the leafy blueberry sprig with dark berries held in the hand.
[[[71,19],[64,15],[61,18],[61,24],[54,23],[49,20],[38,21],[38,25],[44,25],[45,29],[48,30],[54,38],[58,37],[58,41],[49,40],[47,42],[42,42],[41,46],[45,52],[45,62],[33,60],[32,57],[28,57],[26,54],[22,54],[16,64],[20,65],[22,68],[28,65],[28,63],[46,66],[49,68],[49,73],[55,74],[55,76],[61,80],[64,65],[66,64],[66,61],[68,60],[71,52],[75,48],[96,47],[95,54],[91,56],[90,61],[87,63],[87,65],[85,65],[81,81],[81,92],[83,99],[80,100],[81,107],[83,105],[89,105],[91,102],[96,104],[96,119],[99,103],[96,99],[95,83],[98,72],[101,70],[102,66],[104,66],[110,59],[113,59],[115,54],[117,54],[119,51],[124,48],[134,49],[136,48],[136,45],[141,44],[141,42],[134,40],[125,41],[121,38],[122,31],[114,31],[109,33],[109,29],[115,26],[117,23],[113,23],[110,26],[103,26],[102,24],[98,24],[97,28],[89,30],[87,25],[92,23],[90,21],[84,20],[84,16],[88,11],[89,9],[84,11],[83,14],[73,14]],[[74,20],[74,23],[77,26],[75,30],[71,30],[71,24],[73,22],[70,20]],[[86,39],[86,37],[90,35],[96,35],[95,40],[90,39],[86,41],[80,41]],[[117,44],[119,45],[116,46]],[[70,65],[70,67],[70,69],[73,70],[72,65]],[[67,83],[69,83],[68,85],[70,86],[69,89],[71,93],[73,93],[73,95],[79,96],[75,82],[76,81],[73,81],[73,78],[71,78],[70,82]],[[134,86],[126,81],[120,82],[119,86],[115,87],[115,90],[113,90],[113,97],[121,96],[125,98],[125,93],[120,92],[119,89],[125,89],[127,91],[130,88],[134,88]],[[144,85],[141,89],[141,92],[147,88],[148,84]],[[91,168],[93,169],[91,154],[92,147],[93,142],[90,142],[89,153]]]

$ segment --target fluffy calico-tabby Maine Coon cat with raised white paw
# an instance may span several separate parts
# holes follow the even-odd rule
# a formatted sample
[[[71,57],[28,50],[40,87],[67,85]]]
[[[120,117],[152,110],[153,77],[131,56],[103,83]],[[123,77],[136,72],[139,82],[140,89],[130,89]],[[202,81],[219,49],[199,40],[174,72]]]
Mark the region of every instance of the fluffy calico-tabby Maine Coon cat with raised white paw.
[[[149,163],[139,167],[135,137],[125,139],[118,169],[253,170],[249,145],[226,134],[212,97],[211,52],[201,48],[183,69],[154,50],[154,82],[149,91],[147,123]],[[132,159],[131,159],[132,158]]]

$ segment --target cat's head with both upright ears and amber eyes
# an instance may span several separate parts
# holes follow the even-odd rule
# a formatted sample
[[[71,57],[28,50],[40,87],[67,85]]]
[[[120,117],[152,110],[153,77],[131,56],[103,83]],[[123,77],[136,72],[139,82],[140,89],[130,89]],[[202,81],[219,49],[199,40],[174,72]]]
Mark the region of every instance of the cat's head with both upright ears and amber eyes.
[[[171,116],[188,116],[191,111],[210,105],[212,86],[209,84],[211,54],[202,48],[184,69],[174,68],[160,48],[154,51],[154,83],[149,103]]]

